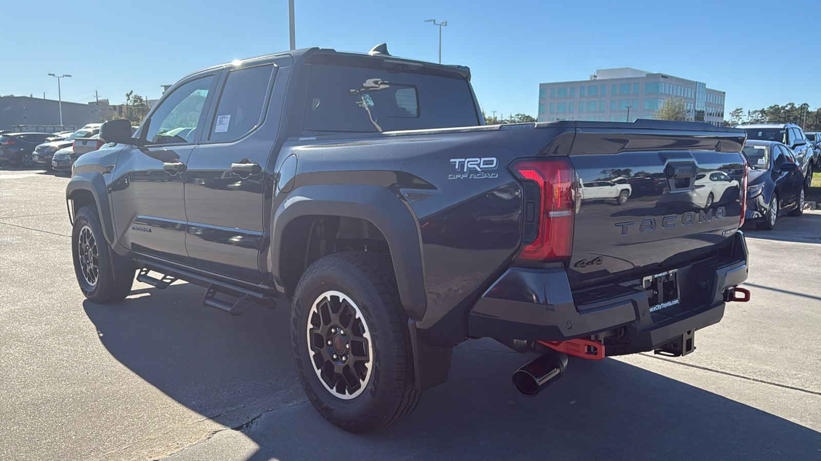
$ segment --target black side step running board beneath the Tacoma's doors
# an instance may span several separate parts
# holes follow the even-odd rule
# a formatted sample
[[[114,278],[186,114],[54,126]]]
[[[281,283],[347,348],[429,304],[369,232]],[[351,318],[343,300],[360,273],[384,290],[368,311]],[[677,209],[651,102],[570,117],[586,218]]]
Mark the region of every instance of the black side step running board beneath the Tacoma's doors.
[[[177,269],[158,262],[147,261],[142,258],[137,259],[137,264],[140,266],[137,281],[152,285],[158,290],[166,289],[168,285],[171,285],[177,280],[184,280],[195,285],[203,286],[206,289],[203,304],[212,308],[218,308],[235,316],[244,313],[255,305],[272,309],[276,308],[277,298],[282,297],[282,294],[268,294],[249,290],[240,285],[232,285],[209,276]],[[151,276],[149,275],[150,272],[157,272],[161,277]],[[219,299],[217,298],[217,294],[223,294],[234,300]]]

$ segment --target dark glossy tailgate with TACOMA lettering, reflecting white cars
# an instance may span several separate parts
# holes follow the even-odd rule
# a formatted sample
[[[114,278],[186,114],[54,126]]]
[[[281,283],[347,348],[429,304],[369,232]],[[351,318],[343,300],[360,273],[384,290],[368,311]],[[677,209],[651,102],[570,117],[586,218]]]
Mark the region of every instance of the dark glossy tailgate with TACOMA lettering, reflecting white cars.
[[[681,125],[681,124],[678,124]],[[741,217],[744,135],[577,130],[573,288],[676,269],[731,242]]]

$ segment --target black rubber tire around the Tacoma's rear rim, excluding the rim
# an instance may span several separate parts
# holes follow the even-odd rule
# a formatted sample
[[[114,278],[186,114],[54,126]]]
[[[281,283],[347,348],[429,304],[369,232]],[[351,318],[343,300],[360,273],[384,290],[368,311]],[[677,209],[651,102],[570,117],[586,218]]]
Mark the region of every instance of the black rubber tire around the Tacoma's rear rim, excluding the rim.
[[[372,368],[360,393],[334,394],[318,376],[308,329],[314,303],[328,292],[346,295],[359,309],[373,345]],[[338,298],[337,298],[338,299]],[[401,306],[390,258],[378,253],[333,253],[311,264],[296,286],[291,345],[305,394],[320,414],[345,431],[378,431],[408,416],[422,392],[414,388],[408,317]],[[351,348],[352,350],[352,348]],[[312,352],[313,351],[313,352]],[[323,358],[320,357],[319,360]],[[347,390],[345,390],[347,392]]]

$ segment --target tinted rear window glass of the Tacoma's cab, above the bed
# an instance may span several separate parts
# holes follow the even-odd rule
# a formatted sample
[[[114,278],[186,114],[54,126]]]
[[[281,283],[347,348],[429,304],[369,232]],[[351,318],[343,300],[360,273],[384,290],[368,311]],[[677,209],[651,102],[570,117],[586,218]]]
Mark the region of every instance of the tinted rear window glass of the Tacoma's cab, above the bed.
[[[466,80],[314,64],[303,128],[376,132],[477,126]]]

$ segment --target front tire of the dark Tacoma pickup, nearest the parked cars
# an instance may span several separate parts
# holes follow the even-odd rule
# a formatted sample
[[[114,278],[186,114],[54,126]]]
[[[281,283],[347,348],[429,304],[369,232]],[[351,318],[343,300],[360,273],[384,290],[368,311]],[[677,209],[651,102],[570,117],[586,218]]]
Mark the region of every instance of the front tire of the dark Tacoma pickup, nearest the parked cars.
[[[86,241],[88,241],[89,231],[94,240],[97,255],[94,262],[97,266],[94,283],[86,280],[83,273],[84,267],[80,261],[82,251],[80,236],[85,233]],[[80,284],[80,290],[89,300],[100,304],[114,303],[125,299],[131,291],[136,267],[133,262],[112,252],[103,236],[103,226],[100,224],[97,208],[94,205],[85,205],[74,217],[74,230],[71,232],[71,255],[74,260],[77,283]]]

